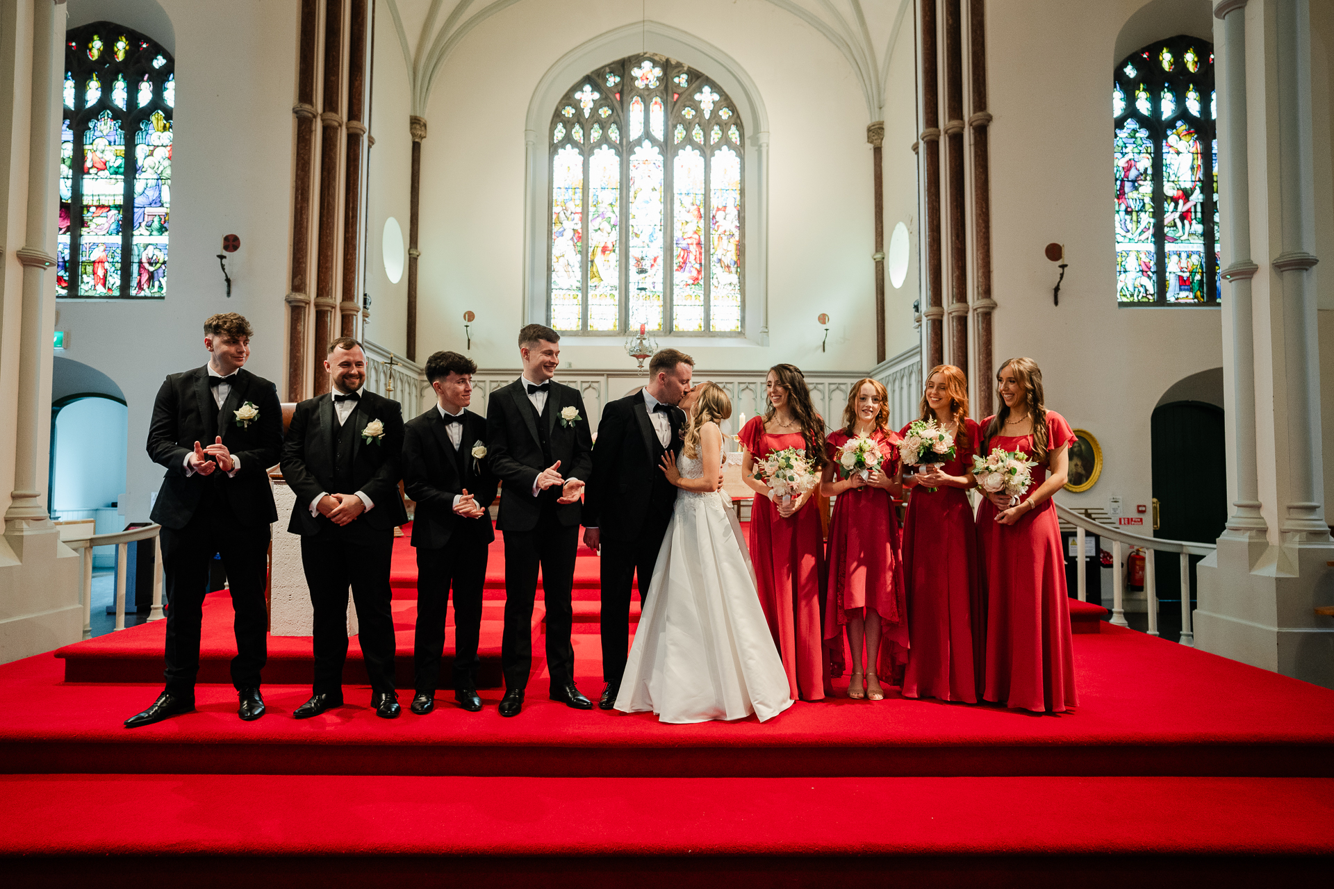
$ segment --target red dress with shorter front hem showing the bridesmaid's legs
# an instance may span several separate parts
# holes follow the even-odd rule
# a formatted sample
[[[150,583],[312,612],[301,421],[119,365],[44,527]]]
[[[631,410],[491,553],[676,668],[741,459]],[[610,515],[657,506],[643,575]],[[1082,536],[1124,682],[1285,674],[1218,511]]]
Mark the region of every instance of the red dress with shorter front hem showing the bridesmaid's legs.
[[[880,445],[880,470],[898,473],[898,439],[876,429],[871,439]],[[828,436],[828,458],[838,466],[839,450],[854,436],[838,429]],[[848,618],[866,617],[874,608],[884,636],[872,670],[891,681],[908,658],[908,610],[899,562],[899,522],[894,498],[884,488],[844,490],[834,501],[828,533],[828,598],[824,608],[824,638],[838,641]],[[842,646],[842,642],[838,641]],[[860,665],[860,652],[852,654]]]

